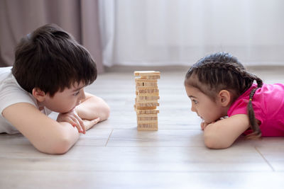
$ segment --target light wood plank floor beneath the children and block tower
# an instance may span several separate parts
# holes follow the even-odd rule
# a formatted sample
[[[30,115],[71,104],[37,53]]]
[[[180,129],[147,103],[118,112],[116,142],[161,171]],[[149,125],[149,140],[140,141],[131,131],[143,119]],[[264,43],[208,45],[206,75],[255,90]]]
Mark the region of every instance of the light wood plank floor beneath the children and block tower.
[[[284,83],[284,68],[253,70],[267,83]],[[204,147],[185,72],[161,72],[156,132],[136,130],[135,82],[127,71],[99,75],[86,88],[109,103],[111,116],[66,154],[43,154],[21,134],[0,134],[0,188],[283,188],[282,137]]]

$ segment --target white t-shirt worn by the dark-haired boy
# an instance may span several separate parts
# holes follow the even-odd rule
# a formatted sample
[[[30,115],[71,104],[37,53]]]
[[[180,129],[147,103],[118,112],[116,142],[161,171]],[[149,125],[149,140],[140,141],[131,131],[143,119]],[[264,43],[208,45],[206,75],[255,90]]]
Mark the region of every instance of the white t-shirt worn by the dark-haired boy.
[[[0,133],[6,132],[8,134],[15,134],[18,133],[18,130],[3,117],[3,110],[15,103],[31,103],[38,108],[38,103],[31,93],[28,93],[19,86],[11,73],[11,68],[12,67],[0,68]],[[43,113],[48,115],[51,111],[44,108]]]

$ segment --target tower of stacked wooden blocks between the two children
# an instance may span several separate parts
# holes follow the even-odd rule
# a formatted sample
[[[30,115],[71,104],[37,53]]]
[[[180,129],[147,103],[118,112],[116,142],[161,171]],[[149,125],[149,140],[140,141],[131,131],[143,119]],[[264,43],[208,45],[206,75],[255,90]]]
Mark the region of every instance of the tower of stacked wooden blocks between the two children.
[[[138,130],[158,130],[157,106],[159,89],[157,79],[160,71],[134,71],[136,82],[136,98],[134,108],[137,115]]]

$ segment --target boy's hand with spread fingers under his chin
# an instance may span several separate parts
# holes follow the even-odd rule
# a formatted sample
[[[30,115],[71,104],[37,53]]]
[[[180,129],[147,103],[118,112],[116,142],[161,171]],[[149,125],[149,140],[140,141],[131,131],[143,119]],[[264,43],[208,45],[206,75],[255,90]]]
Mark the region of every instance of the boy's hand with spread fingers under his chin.
[[[78,132],[86,133],[83,120],[79,117],[75,108],[68,113],[60,113],[58,115],[58,122],[69,122],[73,127],[77,127]]]

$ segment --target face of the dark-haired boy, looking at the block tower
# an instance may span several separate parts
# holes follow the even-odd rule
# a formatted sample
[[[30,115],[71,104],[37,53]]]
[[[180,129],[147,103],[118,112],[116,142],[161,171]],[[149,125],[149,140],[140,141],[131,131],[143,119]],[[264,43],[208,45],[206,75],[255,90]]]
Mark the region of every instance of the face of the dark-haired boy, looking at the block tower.
[[[57,113],[67,113],[79,105],[84,98],[84,84],[81,82],[65,88],[64,91],[56,92],[53,97],[50,97],[48,93],[45,94],[45,101],[41,105]]]

